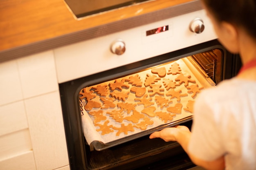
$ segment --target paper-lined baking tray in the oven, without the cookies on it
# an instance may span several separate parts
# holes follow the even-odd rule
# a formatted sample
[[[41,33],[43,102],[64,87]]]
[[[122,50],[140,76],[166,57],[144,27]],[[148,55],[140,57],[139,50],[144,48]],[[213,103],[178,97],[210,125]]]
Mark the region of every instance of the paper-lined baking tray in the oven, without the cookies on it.
[[[176,74],[168,73],[171,70],[170,68],[174,67],[174,64],[176,64],[176,66],[178,64],[178,66],[180,67],[180,73],[176,73]],[[148,91],[148,89],[150,89],[149,86],[147,86],[147,91],[145,93],[145,95],[148,95],[148,97],[152,98],[151,102],[154,102],[153,106],[156,108],[155,112],[162,111],[164,113],[170,113],[169,111],[166,111],[167,108],[168,107],[174,107],[175,104],[180,103],[180,104],[182,104],[182,113],[180,113],[180,114],[171,113],[171,114],[175,114],[175,116],[173,117],[173,120],[170,120],[170,121],[167,121],[167,122],[164,122],[162,119],[160,119],[157,116],[150,117],[150,116],[144,114],[146,117],[150,117],[150,119],[154,121],[154,124],[147,126],[146,130],[141,130],[141,129],[138,129],[138,128],[134,128],[135,129],[134,132],[129,131],[127,134],[120,133],[118,136],[116,135],[117,131],[114,130],[114,132],[112,132],[110,134],[101,135],[101,131],[99,131],[99,132],[97,131],[97,129],[99,129],[99,127],[94,126],[94,123],[93,123],[94,116],[91,115],[91,114],[88,114],[88,113],[102,110],[103,114],[107,117],[107,120],[110,121],[110,124],[108,124],[108,125],[113,125],[115,127],[120,127],[121,123],[117,123],[116,121],[114,121],[111,117],[108,116],[107,113],[110,112],[111,110],[121,110],[120,108],[117,107],[117,104],[120,103],[120,102],[136,103],[135,98],[141,98],[141,97],[144,96],[143,95],[141,97],[137,97],[135,95],[135,93],[131,93],[130,88],[133,87],[132,84],[130,84],[129,86],[124,86],[124,88],[121,88],[121,89],[114,89],[114,90],[110,91],[110,84],[114,84],[117,79],[110,80],[108,82],[104,82],[102,84],[107,84],[108,85],[108,91],[109,91],[108,97],[109,98],[113,97],[113,96],[110,96],[110,92],[113,92],[113,91],[123,91],[124,90],[126,92],[129,91],[130,93],[129,93],[129,97],[127,99],[125,99],[125,101],[122,101],[122,99],[115,99],[115,101],[114,101],[115,105],[116,105],[115,108],[104,108],[104,109],[90,108],[90,109],[88,109],[88,107],[87,107],[87,109],[85,109],[85,106],[87,104],[87,101],[85,100],[86,98],[80,98],[83,101],[82,102],[82,108],[81,108],[83,110],[83,113],[84,113],[84,115],[81,116],[82,117],[82,124],[83,124],[83,132],[84,132],[84,136],[85,136],[85,139],[86,139],[87,143],[90,145],[91,150],[94,150],[94,149],[95,150],[104,150],[106,148],[110,148],[112,146],[123,144],[127,141],[131,141],[133,139],[137,139],[139,137],[149,135],[154,131],[162,130],[163,128],[166,128],[166,127],[173,127],[173,126],[182,124],[186,121],[192,120],[193,112],[189,112],[189,111],[184,110],[184,108],[186,108],[186,104],[188,104],[189,100],[194,101],[195,98],[200,94],[201,90],[203,90],[205,88],[208,88],[208,87],[211,87],[211,86],[215,86],[215,83],[211,79],[209,79],[207,77],[204,77],[202,74],[200,74],[195,69],[193,64],[191,64],[191,62],[189,62],[189,60],[187,58],[182,58],[180,60],[176,60],[176,61],[173,61],[173,62],[162,64],[162,65],[156,66],[154,68],[157,68],[157,67],[158,68],[163,68],[164,67],[166,69],[166,75],[165,76],[159,76],[157,73],[152,72],[152,68],[148,68],[148,69],[146,69],[144,71],[141,71],[139,73],[134,73],[134,74],[128,75],[126,77],[121,77],[118,80],[121,81],[122,79],[127,79],[127,77],[139,76],[139,79],[141,79],[141,82],[143,82],[141,87],[143,87],[143,86],[145,86],[144,82],[146,80],[147,75],[156,75],[155,77],[156,77],[157,81],[155,81],[155,84],[161,85],[161,86],[159,86],[159,88],[164,89],[164,92],[163,92],[164,94],[155,93],[154,95],[152,95],[153,93],[149,93],[149,91]],[[165,79],[165,82],[166,82],[166,79],[171,79],[175,83],[177,83],[179,81],[175,81],[175,79],[180,74],[183,74],[185,77],[189,77],[190,80],[195,80],[195,82],[190,82],[189,81],[186,86],[185,86],[185,82],[181,82],[180,85],[177,85],[173,89],[175,91],[180,91],[181,94],[186,93],[187,96],[181,96],[180,100],[178,100],[178,98],[176,98],[176,97],[174,97],[173,99],[170,99],[172,96],[170,96],[170,95],[167,96],[166,94],[168,93],[168,91],[170,91],[171,88],[168,88],[168,90],[167,90],[167,88],[165,87],[166,84],[164,84],[164,79]],[[128,81],[124,82],[124,83],[129,84]],[[200,91],[198,91],[198,93],[195,93],[195,94],[194,93],[188,93],[189,89],[187,89],[187,87],[189,87],[193,84],[198,84],[198,88],[200,88]],[[97,85],[94,85],[94,87],[95,86],[97,86]],[[93,97],[93,100],[97,101],[98,103],[104,104],[104,102],[102,102],[101,99],[100,99],[102,96],[101,95],[96,95],[97,91],[95,91],[95,88],[92,88],[92,87],[93,86],[86,87],[86,88],[87,88],[88,92],[93,93],[93,95],[96,96],[96,97]],[[85,90],[81,90],[81,92],[83,92],[83,91],[85,91]],[[193,96],[193,95],[195,95],[195,96]],[[164,97],[168,100],[171,100],[171,103],[168,106],[160,107],[155,102],[155,97],[156,96],[162,96],[162,97]],[[141,110],[143,110],[143,109],[144,109],[143,105],[136,105],[136,110],[139,111],[139,113],[141,113]],[[128,115],[131,115],[132,113],[125,113],[125,114],[126,114],[126,116],[128,116]],[[104,121],[106,121],[106,120],[104,120]],[[103,124],[104,121],[101,121],[101,124]],[[140,120],[140,121],[142,121],[142,120]],[[125,120],[125,122],[122,122],[122,123],[127,125],[127,124],[132,123],[132,122]],[[134,123],[132,123],[132,125],[134,125]]]

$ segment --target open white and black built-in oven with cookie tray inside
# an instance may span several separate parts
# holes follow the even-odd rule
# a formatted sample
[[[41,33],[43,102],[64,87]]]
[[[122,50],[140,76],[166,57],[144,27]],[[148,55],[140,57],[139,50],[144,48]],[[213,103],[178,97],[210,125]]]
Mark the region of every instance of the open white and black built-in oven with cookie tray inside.
[[[191,128],[200,91],[240,68],[239,56],[216,40],[202,9],[65,46],[54,54],[58,77],[70,75],[59,90],[72,170],[195,167],[177,142],[149,135],[178,124]],[[72,60],[65,65],[66,56]]]

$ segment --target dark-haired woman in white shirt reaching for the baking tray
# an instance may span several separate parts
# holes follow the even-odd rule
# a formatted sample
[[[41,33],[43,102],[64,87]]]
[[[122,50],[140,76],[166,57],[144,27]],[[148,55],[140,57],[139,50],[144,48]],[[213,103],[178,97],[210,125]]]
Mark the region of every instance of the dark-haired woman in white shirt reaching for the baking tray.
[[[239,53],[236,77],[204,90],[186,126],[150,135],[177,141],[198,166],[208,170],[256,169],[256,0],[202,0],[220,43]]]

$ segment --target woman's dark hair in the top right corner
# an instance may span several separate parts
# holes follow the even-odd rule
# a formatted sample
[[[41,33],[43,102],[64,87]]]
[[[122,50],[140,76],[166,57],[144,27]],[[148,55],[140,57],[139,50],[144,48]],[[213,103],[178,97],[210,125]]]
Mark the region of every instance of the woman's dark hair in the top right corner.
[[[256,39],[256,0],[202,0],[218,21],[241,26]]]

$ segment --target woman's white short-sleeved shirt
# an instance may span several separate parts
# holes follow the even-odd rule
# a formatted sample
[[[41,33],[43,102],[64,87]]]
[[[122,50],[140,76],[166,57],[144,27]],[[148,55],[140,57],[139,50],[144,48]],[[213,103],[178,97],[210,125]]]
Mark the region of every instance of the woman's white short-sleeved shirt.
[[[256,169],[256,82],[236,77],[196,99],[189,152],[213,161],[225,155],[227,170]]]

